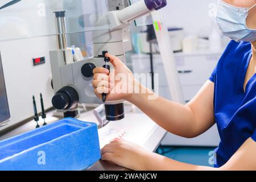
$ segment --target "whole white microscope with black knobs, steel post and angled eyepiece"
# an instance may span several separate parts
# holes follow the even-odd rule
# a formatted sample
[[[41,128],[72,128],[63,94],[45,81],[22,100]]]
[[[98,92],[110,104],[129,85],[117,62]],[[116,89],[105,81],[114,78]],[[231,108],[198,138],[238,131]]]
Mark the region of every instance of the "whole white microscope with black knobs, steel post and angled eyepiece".
[[[78,104],[103,104],[95,96],[92,86],[93,70],[103,67],[110,53],[125,63],[125,52],[132,49],[128,27],[131,22],[152,11],[166,6],[166,0],[141,0],[122,10],[109,11],[101,16],[95,26],[109,25],[108,30],[92,33],[94,57],[74,61],[72,48],[67,46],[66,11],[55,12],[58,33],[58,49],[50,51],[52,86],[54,97],[52,105],[64,117],[75,118],[78,115]],[[108,121],[119,121],[124,118],[124,101],[104,102],[105,115]]]

